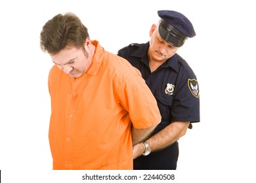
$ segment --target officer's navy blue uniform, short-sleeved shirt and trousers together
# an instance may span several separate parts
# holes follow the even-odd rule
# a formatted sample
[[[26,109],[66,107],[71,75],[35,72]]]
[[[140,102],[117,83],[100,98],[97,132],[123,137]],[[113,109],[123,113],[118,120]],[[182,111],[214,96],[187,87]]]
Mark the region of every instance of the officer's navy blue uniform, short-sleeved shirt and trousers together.
[[[171,124],[171,121],[200,122],[198,81],[188,63],[175,54],[151,73],[148,48],[149,42],[130,44],[119,50],[117,55],[139,69],[158,102],[161,123],[152,135]],[[191,123],[189,128],[192,128]],[[178,156],[179,145],[175,142],[163,150],[134,159],[134,169],[176,169]]]

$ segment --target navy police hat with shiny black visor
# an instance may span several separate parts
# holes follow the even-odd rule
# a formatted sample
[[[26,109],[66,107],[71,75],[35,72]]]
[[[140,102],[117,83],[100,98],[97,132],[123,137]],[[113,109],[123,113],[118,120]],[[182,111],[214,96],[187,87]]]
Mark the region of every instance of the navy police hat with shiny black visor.
[[[158,31],[169,44],[181,47],[188,37],[196,35],[191,22],[179,12],[173,10],[159,10],[160,24]]]

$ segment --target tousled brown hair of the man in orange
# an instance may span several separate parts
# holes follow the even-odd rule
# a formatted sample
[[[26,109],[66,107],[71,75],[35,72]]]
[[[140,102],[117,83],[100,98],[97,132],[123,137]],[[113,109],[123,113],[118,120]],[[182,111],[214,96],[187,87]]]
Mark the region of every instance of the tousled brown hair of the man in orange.
[[[54,55],[66,46],[81,48],[87,37],[87,28],[75,14],[57,14],[43,26],[40,47],[43,52]]]

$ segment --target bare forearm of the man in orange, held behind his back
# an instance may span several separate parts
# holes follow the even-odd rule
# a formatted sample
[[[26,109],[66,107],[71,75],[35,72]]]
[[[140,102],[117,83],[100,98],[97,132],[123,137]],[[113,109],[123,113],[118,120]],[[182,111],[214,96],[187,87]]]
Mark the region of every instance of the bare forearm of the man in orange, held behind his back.
[[[131,127],[131,137],[133,139],[133,146],[139,144],[140,142],[148,139],[149,135],[155,129],[156,125],[148,128],[137,129],[135,127]]]

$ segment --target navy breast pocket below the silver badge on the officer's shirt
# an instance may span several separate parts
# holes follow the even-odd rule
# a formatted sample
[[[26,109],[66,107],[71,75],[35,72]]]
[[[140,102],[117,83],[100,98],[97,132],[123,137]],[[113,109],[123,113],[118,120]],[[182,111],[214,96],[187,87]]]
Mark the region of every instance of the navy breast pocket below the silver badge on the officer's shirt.
[[[158,102],[162,120],[169,120],[170,108],[173,103],[173,95],[167,95],[164,91],[156,90],[154,96]]]

